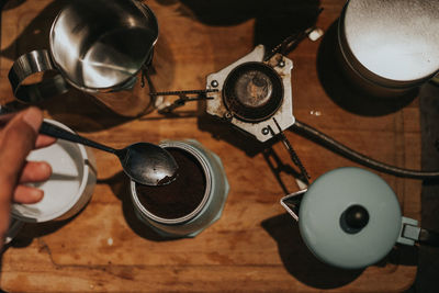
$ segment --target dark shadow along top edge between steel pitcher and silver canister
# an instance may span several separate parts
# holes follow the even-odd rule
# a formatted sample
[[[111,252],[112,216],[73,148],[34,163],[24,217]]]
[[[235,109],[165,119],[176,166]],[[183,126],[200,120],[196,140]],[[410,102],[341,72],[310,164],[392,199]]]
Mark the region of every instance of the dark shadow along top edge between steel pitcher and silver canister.
[[[158,0],[162,5],[178,0]],[[269,49],[293,33],[304,31],[317,21],[319,0],[180,0],[178,12],[212,26],[237,25],[250,19],[255,23],[255,45]]]

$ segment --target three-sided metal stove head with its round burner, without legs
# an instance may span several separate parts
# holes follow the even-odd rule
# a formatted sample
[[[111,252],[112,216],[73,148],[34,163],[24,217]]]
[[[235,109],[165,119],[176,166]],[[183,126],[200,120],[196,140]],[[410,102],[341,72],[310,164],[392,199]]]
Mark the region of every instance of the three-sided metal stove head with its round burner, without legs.
[[[293,61],[267,58],[263,45],[207,76],[207,113],[266,142],[294,124],[291,93]],[[216,91],[214,91],[216,90]]]

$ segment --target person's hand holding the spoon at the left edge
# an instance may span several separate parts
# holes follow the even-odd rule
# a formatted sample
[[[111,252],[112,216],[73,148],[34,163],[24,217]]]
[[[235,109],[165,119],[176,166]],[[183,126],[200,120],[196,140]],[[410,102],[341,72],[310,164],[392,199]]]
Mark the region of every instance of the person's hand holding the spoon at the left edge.
[[[55,138],[38,135],[43,113],[36,108],[0,116],[0,248],[9,228],[11,203],[36,203],[44,192],[24,183],[41,182],[52,174],[50,165],[26,161],[34,148],[49,146]]]

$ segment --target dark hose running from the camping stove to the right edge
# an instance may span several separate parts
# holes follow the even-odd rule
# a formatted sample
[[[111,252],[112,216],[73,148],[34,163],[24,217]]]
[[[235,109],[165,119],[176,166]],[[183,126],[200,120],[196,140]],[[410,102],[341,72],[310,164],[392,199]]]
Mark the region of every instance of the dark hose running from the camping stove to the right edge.
[[[374,160],[368,156],[364,156],[349,147],[338,143],[334,138],[327,136],[326,134],[317,131],[316,128],[300,122],[295,121],[294,125],[290,127],[291,131],[296,132],[297,134],[311,138],[317,143],[322,143],[326,148],[369,168],[375,169],[381,172],[390,173],[396,177],[404,178],[413,178],[413,179],[437,179],[439,178],[439,171],[419,171],[419,170],[409,170],[404,169],[391,165],[386,165],[384,162]]]

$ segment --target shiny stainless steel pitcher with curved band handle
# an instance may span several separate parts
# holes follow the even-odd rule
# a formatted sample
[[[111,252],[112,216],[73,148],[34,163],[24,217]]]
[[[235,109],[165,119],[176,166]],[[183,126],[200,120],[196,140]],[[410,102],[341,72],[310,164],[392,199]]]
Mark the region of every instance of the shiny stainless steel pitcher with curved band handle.
[[[74,87],[121,115],[139,115],[150,103],[144,78],[157,36],[157,19],[139,1],[70,1],[52,24],[49,48],[27,53],[13,64],[9,79],[14,95],[36,103]],[[56,75],[24,84],[46,70]]]

